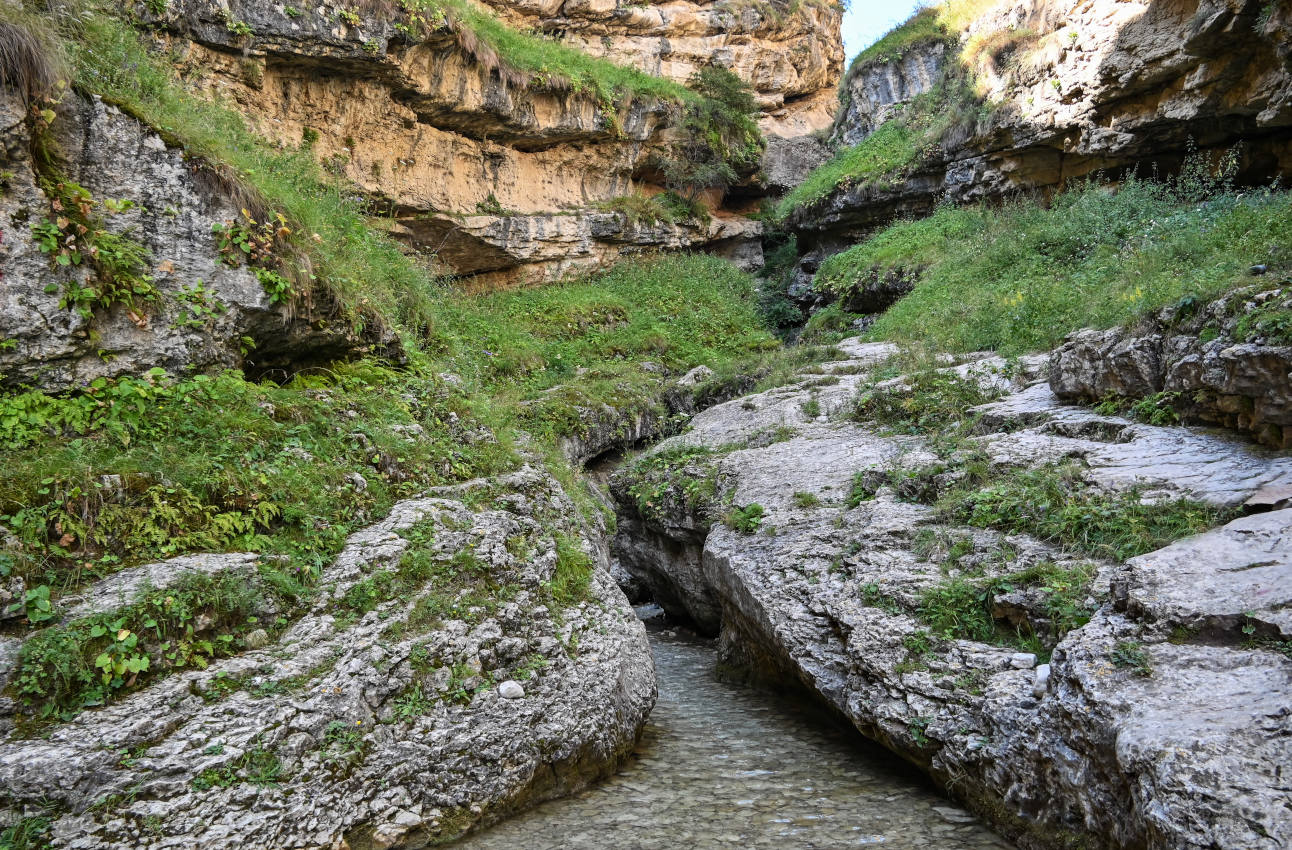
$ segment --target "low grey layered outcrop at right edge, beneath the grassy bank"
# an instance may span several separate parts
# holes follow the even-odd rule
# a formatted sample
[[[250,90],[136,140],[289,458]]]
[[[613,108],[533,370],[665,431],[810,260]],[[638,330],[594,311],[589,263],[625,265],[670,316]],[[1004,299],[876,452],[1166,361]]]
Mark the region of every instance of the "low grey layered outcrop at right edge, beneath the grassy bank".
[[[1292,346],[1274,323],[1286,288],[1248,288],[1194,315],[1168,309],[1134,329],[1080,331],[1054,350],[1050,388],[1065,399],[1150,399],[1187,421],[1292,446]]]

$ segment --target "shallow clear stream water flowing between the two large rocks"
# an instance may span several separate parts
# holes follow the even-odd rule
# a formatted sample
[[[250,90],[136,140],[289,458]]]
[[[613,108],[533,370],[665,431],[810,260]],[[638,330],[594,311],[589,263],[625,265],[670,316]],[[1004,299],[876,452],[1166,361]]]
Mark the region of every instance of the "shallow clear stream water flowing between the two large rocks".
[[[651,642],[659,703],[637,758],[455,847],[1010,849],[854,732],[720,682],[711,643],[659,630]]]

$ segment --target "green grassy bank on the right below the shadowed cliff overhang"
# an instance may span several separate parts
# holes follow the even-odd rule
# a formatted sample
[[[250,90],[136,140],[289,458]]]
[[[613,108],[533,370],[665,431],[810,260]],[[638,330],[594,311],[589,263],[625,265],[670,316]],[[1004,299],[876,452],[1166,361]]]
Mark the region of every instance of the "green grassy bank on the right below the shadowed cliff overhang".
[[[1253,262],[1287,270],[1271,245],[1292,242],[1292,192],[1213,189],[1205,196],[1129,180],[1115,194],[1072,189],[1049,208],[943,207],[831,257],[818,285],[845,293],[873,270],[922,267],[868,338],[943,351],[1047,350],[1083,327],[1213,298],[1248,282]]]

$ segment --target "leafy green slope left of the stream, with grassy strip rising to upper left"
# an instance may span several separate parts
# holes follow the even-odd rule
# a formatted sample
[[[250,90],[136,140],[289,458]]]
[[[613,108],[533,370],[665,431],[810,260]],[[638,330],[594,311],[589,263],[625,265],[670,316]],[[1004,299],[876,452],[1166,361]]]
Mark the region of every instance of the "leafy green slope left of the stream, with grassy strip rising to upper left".
[[[315,285],[336,292],[357,320],[397,328],[411,355],[406,369],[363,360],[286,385],[151,373],[63,397],[0,395],[0,527],[22,544],[0,552],[0,577],[49,588],[56,607],[59,593],[134,563],[249,550],[276,555],[260,583],[289,616],[345,536],[397,499],[518,464],[519,428],[539,437],[535,448],[572,483],[548,450],[568,411],[526,402],[575,378],[576,368],[588,369],[579,377],[585,400],[616,400],[625,382],[645,385],[643,360],[676,371],[722,367],[775,345],[757,322],[752,279],[712,257],[633,261],[561,287],[457,297],[370,229],[353,195],[307,152],[274,149],[235,112],[186,94],[121,19],[87,14],[75,31],[56,34],[48,17],[0,6],[5,22],[61,39],[83,90],[119,103],[284,213],[293,233],[283,260],[311,269]],[[531,67],[572,67],[561,52],[541,56],[531,54]],[[620,85],[603,65],[579,65],[602,75],[589,85],[632,88],[636,78]],[[460,381],[441,377],[448,372]],[[243,646],[255,628],[243,602],[220,588],[185,594],[186,616],[208,611],[220,624],[218,639],[198,656]],[[32,627],[47,620],[40,597],[26,612]],[[146,632],[142,620],[111,632],[121,628]],[[65,714],[83,699],[97,704],[129,689],[120,676],[87,685],[98,681],[84,676],[89,660],[112,648],[90,625],[43,636],[22,660],[27,710]],[[154,661],[149,676],[165,670]]]

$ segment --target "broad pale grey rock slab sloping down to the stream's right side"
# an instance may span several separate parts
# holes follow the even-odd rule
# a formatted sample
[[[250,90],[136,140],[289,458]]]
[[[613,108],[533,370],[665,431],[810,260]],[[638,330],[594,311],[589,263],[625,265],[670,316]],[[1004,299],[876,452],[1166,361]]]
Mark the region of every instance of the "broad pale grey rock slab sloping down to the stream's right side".
[[[964,474],[955,457],[839,416],[891,346],[842,347],[846,360],[704,411],[620,473],[623,566],[720,632],[727,661],[805,685],[1023,847],[1292,841],[1292,512],[1124,563],[960,526],[926,504]],[[1287,457],[1066,407],[1040,360],[1009,381],[1001,367],[960,367],[1009,388],[960,450],[996,474],[1062,461],[1088,492],[1220,510],[1292,483]],[[672,462],[656,490],[641,483],[651,462]],[[761,522],[740,531],[730,512],[751,505]],[[1067,605],[1081,610],[1072,625],[1089,617],[1048,664],[1013,638],[929,630],[932,601],[959,581],[1005,634],[1058,638],[1056,589],[1036,570],[1083,576]]]

